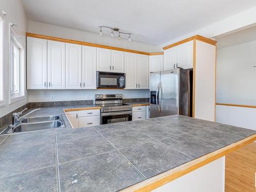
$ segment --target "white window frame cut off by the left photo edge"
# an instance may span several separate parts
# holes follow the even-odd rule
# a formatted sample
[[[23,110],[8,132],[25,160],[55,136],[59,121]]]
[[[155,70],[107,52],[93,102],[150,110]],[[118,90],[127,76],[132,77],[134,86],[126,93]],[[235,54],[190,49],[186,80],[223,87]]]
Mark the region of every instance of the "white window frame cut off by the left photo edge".
[[[0,106],[4,106],[5,103],[5,74],[4,74],[4,32],[5,32],[5,19],[0,10]]]

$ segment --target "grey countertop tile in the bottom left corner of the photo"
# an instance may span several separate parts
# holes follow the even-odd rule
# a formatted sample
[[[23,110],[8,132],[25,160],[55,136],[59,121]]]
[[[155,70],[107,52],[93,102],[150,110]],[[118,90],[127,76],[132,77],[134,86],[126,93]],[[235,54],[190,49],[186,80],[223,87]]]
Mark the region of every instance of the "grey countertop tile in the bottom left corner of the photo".
[[[55,192],[57,190],[56,166],[0,179],[0,191]]]

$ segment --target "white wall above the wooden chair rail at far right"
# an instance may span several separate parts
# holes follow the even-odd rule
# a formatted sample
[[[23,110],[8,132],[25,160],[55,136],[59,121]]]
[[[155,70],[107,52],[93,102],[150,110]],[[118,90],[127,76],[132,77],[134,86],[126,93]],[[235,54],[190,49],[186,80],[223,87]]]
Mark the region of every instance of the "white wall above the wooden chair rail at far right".
[[[255,50],[256,40],[217,50],[217,103],[256,105]]]

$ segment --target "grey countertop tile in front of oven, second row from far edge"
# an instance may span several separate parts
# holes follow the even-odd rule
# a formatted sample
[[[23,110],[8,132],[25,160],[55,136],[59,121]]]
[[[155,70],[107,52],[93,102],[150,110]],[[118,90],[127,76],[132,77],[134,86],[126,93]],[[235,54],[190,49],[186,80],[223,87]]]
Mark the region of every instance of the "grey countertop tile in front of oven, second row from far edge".
[[[116,148],[133,146],[152,141],[153,139],[135,130],[126,130],[108,134],[102,134]]]

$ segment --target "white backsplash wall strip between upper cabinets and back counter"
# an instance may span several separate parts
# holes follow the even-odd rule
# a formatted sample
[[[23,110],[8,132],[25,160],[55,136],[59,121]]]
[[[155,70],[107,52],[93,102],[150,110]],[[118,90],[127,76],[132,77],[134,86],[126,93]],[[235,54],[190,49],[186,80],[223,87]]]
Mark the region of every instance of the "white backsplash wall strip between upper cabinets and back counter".
[[[148,98],[149,90],[29,90],[29,102],[90,100],[95,94],[123,94],[123,98]]]

